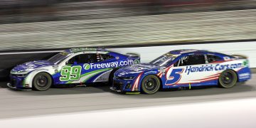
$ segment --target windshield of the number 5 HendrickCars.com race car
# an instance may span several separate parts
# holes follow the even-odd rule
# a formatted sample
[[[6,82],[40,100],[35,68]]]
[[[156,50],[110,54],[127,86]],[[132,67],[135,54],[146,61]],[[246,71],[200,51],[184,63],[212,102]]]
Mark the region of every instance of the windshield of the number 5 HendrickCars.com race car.
[[[176,55],[166,53],[164,55],[159,56],[159,58],[156,58],[156,59],[152,60],[150,62],[150,64],[159,65],[159,66],[167,66],[175,58],[176,58]]]

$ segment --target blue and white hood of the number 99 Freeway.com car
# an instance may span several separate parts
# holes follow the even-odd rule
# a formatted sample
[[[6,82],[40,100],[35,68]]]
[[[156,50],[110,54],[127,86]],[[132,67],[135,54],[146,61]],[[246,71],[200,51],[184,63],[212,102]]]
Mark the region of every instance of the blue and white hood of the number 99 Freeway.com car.
[[[21,71],[25,71],[25,70],[33,70],[36,68],[42,68],[42,67],[46,67],[49,65],[54,65],[53,63],[50,63],[48,60],[39,60],[39,61],[32,61],[32,62],[28,62],[28,63],[23,63],[21,65],[17,65],[13,70],[11,70],[12,72],[21,72]]]

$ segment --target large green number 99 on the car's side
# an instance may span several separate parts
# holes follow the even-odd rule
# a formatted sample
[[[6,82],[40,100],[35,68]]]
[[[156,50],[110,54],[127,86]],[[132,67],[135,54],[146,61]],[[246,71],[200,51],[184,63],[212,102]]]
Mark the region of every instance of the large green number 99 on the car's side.
[[[75,81],[80,79],[82,67],[80,65],[77,66],[65,66],[61,69],[60,72],[60,81]]]

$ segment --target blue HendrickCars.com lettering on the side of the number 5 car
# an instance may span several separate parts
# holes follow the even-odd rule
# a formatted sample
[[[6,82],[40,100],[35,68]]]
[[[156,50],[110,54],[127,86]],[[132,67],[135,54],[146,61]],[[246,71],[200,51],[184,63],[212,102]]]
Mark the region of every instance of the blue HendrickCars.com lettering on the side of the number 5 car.
[[[242,68],[242,67],[243,67],[242,63],[234,63],[234,64],[226,64],[226,65],[217,64],[217,65],[186,66],[185,73],[189,75],[190,73],[235,69],[235,68]]]

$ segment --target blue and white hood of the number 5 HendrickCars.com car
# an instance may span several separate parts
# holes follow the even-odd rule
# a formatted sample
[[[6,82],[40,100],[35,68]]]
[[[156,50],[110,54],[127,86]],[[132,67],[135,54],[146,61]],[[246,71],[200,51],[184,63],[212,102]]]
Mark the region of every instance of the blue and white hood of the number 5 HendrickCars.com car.
[[[158,66],[158,65],[151,65],[149,63],[141,63],[138,65],[131,65],[126,68],[120,68],[119,70],[117,70],[115,75],[122,77],[124,75],[139,74],[139,73],[142,73],[143,71],[154,70],[154,69],[158,69],[158,68],[160,68],[160,66]]]

